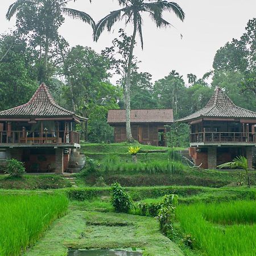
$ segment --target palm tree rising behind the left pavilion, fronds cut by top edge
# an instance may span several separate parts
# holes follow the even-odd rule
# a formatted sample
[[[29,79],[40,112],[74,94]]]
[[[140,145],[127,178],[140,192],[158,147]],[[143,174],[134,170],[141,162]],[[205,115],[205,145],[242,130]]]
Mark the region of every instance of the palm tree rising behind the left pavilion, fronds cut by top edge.
[[[89,23],[90,26],[95,27],[95,22],[89,14],[84,13],[83,11],[70,9],[67,6],[68,2],[71,0],[16,0],[9,6],[9,9],[6,13],[6,19],[10,20],[16,13],[24,10],[27,7],[33,7],[36,10],[42,11],[44,13],[44,69],[47,70],[48,63],[48,53],[49,53],[49,44],[51,41],[52,30],[51,26],[53,24],[49,23],[49,20],[54,20],[53,15],[59,16],[61,14],[68,15],[73,19],[80,19],[85,23]],[[74,0],[76,1],[76,0]],[[91,2],[91,0],[89,0]],[[50,19],[51,16],[51,19]],[[60,23],[57,25],[60,26]]]

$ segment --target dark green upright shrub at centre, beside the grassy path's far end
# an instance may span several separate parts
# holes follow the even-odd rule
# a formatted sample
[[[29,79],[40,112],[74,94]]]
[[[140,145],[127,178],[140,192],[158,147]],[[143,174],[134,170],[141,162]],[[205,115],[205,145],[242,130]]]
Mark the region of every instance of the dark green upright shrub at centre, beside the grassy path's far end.
[[[115,212],[125,213],[127,213],[133,206],[131,197],[124,192],[124,189],[119,183],[114,183],[112,185],[112,204]]]

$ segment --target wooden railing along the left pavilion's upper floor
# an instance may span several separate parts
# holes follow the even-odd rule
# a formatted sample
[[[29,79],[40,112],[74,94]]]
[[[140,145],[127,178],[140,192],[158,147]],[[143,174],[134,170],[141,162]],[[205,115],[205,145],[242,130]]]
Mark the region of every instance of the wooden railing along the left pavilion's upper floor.
[[[0,144],[80,143],[76,131],[0,131]]]

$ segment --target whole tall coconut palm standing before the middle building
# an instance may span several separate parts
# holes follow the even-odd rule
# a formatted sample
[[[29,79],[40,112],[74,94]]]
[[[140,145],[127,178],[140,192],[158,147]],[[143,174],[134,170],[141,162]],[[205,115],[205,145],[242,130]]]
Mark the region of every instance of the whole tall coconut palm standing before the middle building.
[[[119,10],[112,11],[110,14],[102,18],[96,25],[94,30],[94,40],[97,41],[102,31],[105,28],[110,31],[115,22],[124,19],[125,23],[133,24],[133,36],[130,43],[130,53],[126,77],[126,137],[127,141],[133,141],[130,126],[130,91],[131,91],[131,64],[133,59],[134,42],[137,32],[141,39],[141,47],[143,49],[143,35],[142,35],[142,14],[146,13],[151,16],[156,24],[156,27],[171,26],[167,20],[163,19],[163,12],[174,12],[180,20],[184,20],[185,14],[181,7],[175,2],[168,2],[163,0],[118,0],[122,7]]]

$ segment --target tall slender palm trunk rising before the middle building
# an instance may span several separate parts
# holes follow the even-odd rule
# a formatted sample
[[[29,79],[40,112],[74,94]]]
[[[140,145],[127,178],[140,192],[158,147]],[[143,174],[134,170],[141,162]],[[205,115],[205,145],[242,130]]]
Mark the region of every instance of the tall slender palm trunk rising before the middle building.
[[[125,102],[126,102],[126,137],[127,141],[133,142],[133,136],[131,135],[131,61],[133,60],[133,49],[135,43],[135,36],[137,33],[137,16],[134,15],[134,30],[133,30],[133,37],[131,38],[131,46],[130,46],[130,53],[129,53],[129,60],[128,60],[128,69],[127,69],[127,80],[126,80],[126,94],[125,94]]]

